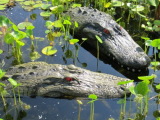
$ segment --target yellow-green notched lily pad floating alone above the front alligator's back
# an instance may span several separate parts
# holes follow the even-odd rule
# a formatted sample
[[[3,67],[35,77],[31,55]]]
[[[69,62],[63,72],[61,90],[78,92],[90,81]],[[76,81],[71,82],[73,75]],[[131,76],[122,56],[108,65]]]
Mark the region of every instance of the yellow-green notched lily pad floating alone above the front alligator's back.
[[[44,55],[53,55],[57,52],[56,48],[53,48],[52,46],[47,46],[45,48],[42,49],[42,53]]]

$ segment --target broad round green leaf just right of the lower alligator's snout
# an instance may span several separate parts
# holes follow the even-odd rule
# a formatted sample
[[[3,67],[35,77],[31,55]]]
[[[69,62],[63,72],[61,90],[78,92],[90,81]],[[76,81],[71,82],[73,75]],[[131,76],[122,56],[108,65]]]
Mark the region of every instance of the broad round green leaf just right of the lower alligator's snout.
[[[135,87],[136,94],[141,94],[142,96],[147,95],[148,91],[149,91],[149,87],[145,82],[140,82]]]

